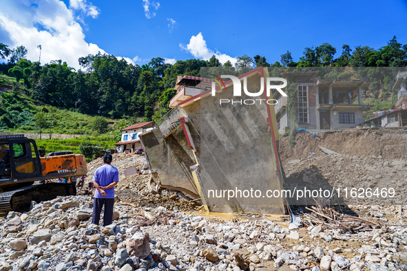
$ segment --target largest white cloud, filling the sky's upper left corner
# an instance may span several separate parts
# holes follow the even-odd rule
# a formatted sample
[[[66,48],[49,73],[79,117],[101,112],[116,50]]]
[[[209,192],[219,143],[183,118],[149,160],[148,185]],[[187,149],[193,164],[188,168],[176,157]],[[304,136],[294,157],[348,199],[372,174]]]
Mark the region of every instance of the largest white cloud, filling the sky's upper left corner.
[[[24,45],[27,58],[39,60],[41,45],[41,63],[61,59],[70,67],[79,69],[78,58],[88,54],[106,52],[94,43],[85,41],[85,34],[78,19],[74,18],[74,9],[85,9],[85,16],[97,16],[98,8],[86,0],[70,0],[70,8],[63,1],[38,1],[38,5],[29,1],[2,0],[0,9],[0,33],[5,33],[10,47]],[[132,59],[125,58],[132,63]]]

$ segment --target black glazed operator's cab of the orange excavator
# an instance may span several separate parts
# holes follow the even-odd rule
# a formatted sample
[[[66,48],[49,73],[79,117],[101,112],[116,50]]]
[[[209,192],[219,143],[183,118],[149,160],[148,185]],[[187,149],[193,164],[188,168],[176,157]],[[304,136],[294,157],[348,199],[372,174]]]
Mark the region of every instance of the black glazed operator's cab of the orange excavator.
[[[35,141],[23,135],[0,135],[0,184],[41,176],[41,162]]]

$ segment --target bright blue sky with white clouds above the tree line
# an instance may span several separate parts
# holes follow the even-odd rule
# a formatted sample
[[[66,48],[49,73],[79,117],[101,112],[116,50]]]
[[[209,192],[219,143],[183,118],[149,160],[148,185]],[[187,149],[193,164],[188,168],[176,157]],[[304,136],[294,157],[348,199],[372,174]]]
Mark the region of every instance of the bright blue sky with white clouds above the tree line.
[[[106,52],[143,64],[153,57],[169,63],[217,54],[295,61],[304,47],[331,43],[378,48],[397,36],[407,43],[406,0],[388,1],[162,1],[2,0],[0,42],[25,45],[41,62]]]

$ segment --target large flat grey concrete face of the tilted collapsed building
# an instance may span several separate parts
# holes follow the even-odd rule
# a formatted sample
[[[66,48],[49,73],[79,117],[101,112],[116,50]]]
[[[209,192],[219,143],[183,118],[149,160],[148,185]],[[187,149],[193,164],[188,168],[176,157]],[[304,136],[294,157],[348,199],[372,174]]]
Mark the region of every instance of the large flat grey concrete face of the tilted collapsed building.
[[[248,89],[260,89],[260,74],[247,79]],[[232,87],[201,100],[200,177],[203,193],[213,211],[284,213],[281,198],[210,197],[209,191],[280,190],[275,174],[267,105],[219,105],[235,98]],[[254,92],[254,91],[252,91]],[[244,96],[238,99],[250,99]],[[274,109],[272,109],[274,111]],[[188,113],[189,114],[189,113]]]

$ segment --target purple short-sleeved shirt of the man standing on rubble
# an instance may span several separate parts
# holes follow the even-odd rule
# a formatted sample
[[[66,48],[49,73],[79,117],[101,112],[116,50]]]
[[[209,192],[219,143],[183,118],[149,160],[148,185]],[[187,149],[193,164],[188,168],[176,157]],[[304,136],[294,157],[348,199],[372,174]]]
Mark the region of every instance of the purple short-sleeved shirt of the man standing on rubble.
[[[118,170],[110,165],[104,164],[100,168],[96,169],[93,177],[93,181],[97,182],[99,186],[108,186],[112,182],[118,182]],[[114,199],[114,187],[105,190],[106,195],[103,196],[99,191],[95,191],[94,197],[102,197],[106,199]]]

